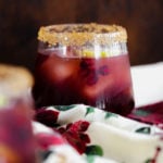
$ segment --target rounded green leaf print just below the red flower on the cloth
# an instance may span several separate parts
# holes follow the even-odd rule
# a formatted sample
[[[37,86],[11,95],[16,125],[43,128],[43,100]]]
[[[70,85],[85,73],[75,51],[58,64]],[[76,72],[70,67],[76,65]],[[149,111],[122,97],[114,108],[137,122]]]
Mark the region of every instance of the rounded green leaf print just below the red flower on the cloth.
[[[103,155],[103,150],[100,146],[93,145],[93,146],[88,146],[86,149],[86,154],[87,155]]]

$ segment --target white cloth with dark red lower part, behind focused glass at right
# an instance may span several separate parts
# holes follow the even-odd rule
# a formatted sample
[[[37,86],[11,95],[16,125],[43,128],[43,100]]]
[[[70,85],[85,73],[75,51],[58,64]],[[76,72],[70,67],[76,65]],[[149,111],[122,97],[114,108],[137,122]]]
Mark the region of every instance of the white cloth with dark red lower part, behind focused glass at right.
[[[163,127],[163,62],[131,66],[136,109],[128,115]]]

